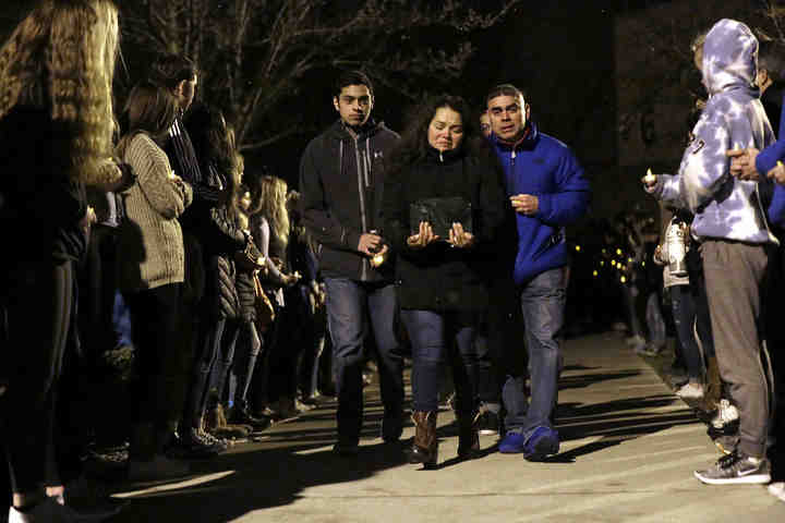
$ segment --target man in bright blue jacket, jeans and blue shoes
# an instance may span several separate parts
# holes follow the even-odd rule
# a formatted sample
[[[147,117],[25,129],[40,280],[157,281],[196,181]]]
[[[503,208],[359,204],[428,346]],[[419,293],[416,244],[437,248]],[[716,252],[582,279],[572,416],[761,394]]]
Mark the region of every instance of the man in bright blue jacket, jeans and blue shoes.
[[[491,141],[516,212],[514,279],[520,292],[531,378],[531,401],[523,394],[522,376],[509,377],[504,386],[507,434],[499,452],[523,453],[526,459],[538,461],[559,448],[552,414],[558,393],[569,263],[564,228],[585,214],[590,188],[572,151],[541,133],[531,121],[520,89],[499,85],[491,90],[486,102]]]

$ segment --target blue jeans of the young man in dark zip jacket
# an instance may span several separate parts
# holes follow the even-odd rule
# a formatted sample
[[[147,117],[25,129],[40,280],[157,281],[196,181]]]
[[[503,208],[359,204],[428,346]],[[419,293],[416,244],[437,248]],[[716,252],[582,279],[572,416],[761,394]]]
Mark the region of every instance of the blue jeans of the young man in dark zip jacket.
[[[399,419],[402,416],[403,355],[395,331],[396,289],[391,283],[366,283],[348,278],[327,278],[325,285],[338,394],[338,439],[357,443],[362,428],[366,317],[378,350],[385,418]]]

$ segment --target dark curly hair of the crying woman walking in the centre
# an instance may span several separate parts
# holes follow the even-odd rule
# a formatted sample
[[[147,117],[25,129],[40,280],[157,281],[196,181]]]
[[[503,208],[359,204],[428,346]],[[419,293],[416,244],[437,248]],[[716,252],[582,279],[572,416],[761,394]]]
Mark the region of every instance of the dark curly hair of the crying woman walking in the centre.
[[[438,95],[426,99],[422,105],[410,111],[409,122],[401,139],[396,145],[391,155],[391,172],[397,173],[407,167],[423,160],[428,150],[432,149],[427,141],[427,131],[431,121],[439,108],[452,109],[461,117],[463,126],[463,139],[459,146],[466,156],[490,158],[491,147],[485,137],[480,133],[478,119],[469,105],[460,96]]]

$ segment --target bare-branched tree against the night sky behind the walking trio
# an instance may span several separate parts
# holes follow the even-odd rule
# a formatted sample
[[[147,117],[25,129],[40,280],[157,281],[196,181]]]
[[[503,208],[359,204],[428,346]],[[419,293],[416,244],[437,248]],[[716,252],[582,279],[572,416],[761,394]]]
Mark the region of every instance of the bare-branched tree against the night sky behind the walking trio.
[[[241,148],[254,149],[301,129],[298,111],[285,107],[302,96],[314,71],[363,69],[414,98],[424,80],[457,78],[474,51],[472,32],[522,3],[135,0],[122,10],[125,47],[193,58],[203,71],[202,96],[233,121]]]

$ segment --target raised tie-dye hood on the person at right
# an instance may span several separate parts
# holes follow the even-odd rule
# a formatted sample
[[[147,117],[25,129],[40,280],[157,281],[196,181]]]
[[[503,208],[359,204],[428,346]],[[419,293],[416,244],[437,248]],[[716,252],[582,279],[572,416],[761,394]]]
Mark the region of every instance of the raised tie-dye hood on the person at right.
[[[710,95],[757,90],[758,38],[741,22],[721,20],[706,34],[702,72]]]

